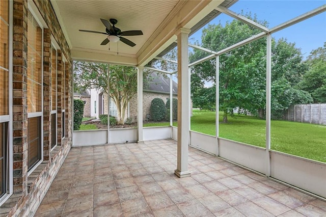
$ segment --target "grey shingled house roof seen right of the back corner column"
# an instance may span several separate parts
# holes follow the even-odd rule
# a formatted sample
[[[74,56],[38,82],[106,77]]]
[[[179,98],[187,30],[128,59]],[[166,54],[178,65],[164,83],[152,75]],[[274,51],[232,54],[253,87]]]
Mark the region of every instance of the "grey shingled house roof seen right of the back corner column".
[[[153,91],[158,93],[170,94],[170,78],[162,73],[152,72],[149,77],[151,77],[148,84],[144,84],[144,91]],[[178,84],[173,80],[172,83],[172,93],[178,93]]]

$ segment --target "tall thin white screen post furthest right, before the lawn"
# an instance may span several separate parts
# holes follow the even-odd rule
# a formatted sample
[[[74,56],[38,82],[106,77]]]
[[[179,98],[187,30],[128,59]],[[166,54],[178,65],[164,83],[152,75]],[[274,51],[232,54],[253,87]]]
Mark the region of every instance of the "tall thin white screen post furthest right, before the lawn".
[[[270,97],[271,97],[271,35],[267,34],[266,42],[266,173],[270,176]]]

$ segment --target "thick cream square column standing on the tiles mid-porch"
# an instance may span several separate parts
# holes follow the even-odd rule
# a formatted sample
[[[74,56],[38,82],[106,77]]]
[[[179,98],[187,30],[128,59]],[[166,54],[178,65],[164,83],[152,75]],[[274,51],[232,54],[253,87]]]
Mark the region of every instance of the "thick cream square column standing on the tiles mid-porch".
[[[190,176],[188,171],[189,144],[189,72],[188,72],[188,34],[190,30],[180,28],[178,37],[178,148],[177,169],[174,173],[182,178]]]

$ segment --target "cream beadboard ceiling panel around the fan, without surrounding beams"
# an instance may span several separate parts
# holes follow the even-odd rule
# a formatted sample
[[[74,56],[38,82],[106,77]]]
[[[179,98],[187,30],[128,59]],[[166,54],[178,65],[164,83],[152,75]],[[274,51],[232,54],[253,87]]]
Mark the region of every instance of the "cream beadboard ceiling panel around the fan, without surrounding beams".
[[[106,52],[123,56],[135,56],[145,42],[154,33],[162,21],[169,15],[179,0],[169,1],[52,1],[60,11],[71,47],[75,50]],[[100,18],[118,20],[116,27],[121,31],[141,30],[142,36],[125,36],[136,45],[130,47],[122,42],[100,45],[105,35],[79,32],[91,30],[105,32]],[[118,45],[118,47],[117,47]]]

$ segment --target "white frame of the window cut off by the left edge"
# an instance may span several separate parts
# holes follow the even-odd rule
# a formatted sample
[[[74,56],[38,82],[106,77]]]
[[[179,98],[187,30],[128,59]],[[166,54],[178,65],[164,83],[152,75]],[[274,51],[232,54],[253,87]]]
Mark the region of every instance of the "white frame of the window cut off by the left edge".
[[[9,198],[10,196],[13,194],[13,146],[10,144],[13,144],[13,111],[12,111],[12,105],[13,105],[13,95],[12,95],[12,90],[13,90],[13,84],[12,84],[12,80],[13,80],[13,75],[12,72],[13,71],[13,63],[12,63],[12,50],[13,50],[13,16],[12,16],[12,11],[13,11],[13,2],[12,1],[8,1],[8,6],[9,6],[9,12],[8,12],[8,16],[9,16],[9,31],[8,31],[8,70],[9,71],[9,79],[8,79],[8,90],[9,90],[9,115],[3,115],[0,116],[0,123],[4,123],[4,122],[8,122],[8,130],[9,130],[9,138],[8,138],[8,143],[9,143],[9,147],[8,147],[8,153],[9,156],[6,156],[7,162],[8,162],[8,177],[7,177],[7,181],[8,181],[8,189],[7,189],[7,193],[4,194],[2,197],[0,197],[0,206],[2,204],[4,204]]]

